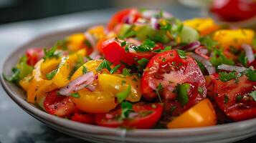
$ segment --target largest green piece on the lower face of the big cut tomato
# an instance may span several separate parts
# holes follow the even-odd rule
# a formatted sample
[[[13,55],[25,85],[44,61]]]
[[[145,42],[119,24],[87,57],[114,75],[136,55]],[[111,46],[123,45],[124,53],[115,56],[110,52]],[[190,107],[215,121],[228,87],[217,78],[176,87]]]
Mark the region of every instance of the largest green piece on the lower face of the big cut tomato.
[[[178,92],[178,101],[184,106],[189,102],[188,91],[190,89],[190,84],[178,84],[176,90]]]

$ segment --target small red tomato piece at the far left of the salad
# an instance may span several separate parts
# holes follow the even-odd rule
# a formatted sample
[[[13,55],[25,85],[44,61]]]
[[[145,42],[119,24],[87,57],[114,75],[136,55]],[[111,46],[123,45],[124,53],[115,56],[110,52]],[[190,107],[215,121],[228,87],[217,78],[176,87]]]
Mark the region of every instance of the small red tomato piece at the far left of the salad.
[[[27,49],[26,51],[27,55],[27,64],[30,66],[34,66],[34,64],[37,63],[42,57],[44,56],[44,51],[39,48],[31,48]]]

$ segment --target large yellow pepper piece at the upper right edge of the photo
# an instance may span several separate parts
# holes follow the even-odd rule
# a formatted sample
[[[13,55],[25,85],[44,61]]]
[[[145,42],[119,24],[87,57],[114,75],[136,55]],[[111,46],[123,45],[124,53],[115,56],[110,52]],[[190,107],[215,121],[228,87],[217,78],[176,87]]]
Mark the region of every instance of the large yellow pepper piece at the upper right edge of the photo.
[[[214,33],[213,39],[224,48],[234,46],[240,49],[241,44],[252,44],[255,32],[252,29],[222,29]]]

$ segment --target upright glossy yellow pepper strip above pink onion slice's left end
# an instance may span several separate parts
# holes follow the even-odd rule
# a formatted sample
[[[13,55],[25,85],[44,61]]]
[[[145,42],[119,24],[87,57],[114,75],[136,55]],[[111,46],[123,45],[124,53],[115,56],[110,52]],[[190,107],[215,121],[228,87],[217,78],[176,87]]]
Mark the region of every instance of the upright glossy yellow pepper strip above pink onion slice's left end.
[[[70,59],[69,57],[62,57],[57,72],[52,78],[52,82],[57,85],[57,87],[65,87],[65,85],[70,82],[68,76],[71,71]]]

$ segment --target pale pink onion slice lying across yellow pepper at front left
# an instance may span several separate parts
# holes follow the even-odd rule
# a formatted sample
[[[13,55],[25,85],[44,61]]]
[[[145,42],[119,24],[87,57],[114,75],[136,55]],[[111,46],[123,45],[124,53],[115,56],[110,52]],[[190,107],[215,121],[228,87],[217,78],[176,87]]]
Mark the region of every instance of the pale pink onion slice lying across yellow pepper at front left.
[[[86,74],[82,74],[82,76],[77,77],[77,79],[73,80],[65,87],[62,87],[59,91],[61,95],[70,96],[72,92],[77,92],[80,89],[87,88],[90,91],[94,91],[93,85],[90,85],[95,79],[92,71],[87,72]]]

